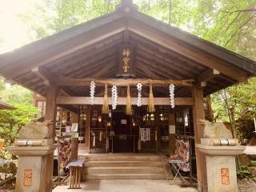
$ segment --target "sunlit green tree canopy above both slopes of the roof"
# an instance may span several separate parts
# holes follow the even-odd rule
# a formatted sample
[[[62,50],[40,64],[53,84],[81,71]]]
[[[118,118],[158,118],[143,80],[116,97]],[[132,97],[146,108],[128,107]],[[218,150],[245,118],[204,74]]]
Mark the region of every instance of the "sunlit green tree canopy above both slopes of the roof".
[[[114,11],[120,0],[45,0],[21,14],[32,41]],[[256,60],[255,0],[134,0],[142,13]]]

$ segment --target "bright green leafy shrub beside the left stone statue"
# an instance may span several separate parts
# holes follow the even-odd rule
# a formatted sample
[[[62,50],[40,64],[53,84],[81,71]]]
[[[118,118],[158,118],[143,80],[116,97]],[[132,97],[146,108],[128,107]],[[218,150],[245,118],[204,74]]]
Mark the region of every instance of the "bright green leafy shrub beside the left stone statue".
[[[11,103],[15,110],[0,110],[0,138],[5,141],[5,146],[14,143],[18,130],[31,122],[38,113],[38,109],[25,103]]]

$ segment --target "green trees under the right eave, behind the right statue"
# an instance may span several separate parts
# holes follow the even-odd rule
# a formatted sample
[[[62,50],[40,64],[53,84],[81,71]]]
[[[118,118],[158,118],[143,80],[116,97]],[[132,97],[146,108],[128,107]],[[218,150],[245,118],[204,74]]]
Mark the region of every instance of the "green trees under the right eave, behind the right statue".
[[[255,90],[256,78],[250,78],[248,82],[230,86],[226,90],[211,95],[215,120],[230,122],[234,136],[241,139],[248,136],[242,132],[251,134],[253,131],[251,126],[240,122],[241,119],[251,121],[256,117]],[[251,109],[250,112],[243,114],[242,112],[248,108]],[[247,129],[244,126],[248,126]]]

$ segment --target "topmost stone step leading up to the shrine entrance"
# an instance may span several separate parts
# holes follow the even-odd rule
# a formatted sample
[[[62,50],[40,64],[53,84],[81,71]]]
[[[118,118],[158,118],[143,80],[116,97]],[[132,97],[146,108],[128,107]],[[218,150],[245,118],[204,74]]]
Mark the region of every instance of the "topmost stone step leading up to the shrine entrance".
[[[161,155],[155,154],[90,154],[88,161],[160,161]]]

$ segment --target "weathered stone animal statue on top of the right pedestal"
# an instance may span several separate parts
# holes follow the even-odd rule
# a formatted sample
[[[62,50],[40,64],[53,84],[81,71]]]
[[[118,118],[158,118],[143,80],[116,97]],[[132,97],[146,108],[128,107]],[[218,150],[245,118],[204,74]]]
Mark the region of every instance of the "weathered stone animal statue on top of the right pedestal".
[[[200,119],[204,126],[203,138],[233,138],[231,130],[227,129],[223,122],[209,122]]]

